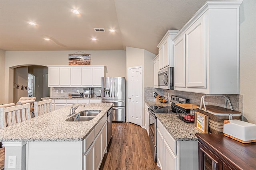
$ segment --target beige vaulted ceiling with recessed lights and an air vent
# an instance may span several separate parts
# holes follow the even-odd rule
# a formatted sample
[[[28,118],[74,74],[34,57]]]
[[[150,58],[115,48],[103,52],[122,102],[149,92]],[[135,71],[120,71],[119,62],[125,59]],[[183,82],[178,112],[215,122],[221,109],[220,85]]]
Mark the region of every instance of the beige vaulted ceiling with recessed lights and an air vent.
[[[156,46],[166,31],[181,29],[205,2],[0,0],[0,49],[87,51],[126,50],[128,46],[158,54]],[[79,10],[80,15],[73,14],[72,9]],[[29,25],[29,21],[37,25]],[[94,28],[104,28],[106,32],[95,32]]]

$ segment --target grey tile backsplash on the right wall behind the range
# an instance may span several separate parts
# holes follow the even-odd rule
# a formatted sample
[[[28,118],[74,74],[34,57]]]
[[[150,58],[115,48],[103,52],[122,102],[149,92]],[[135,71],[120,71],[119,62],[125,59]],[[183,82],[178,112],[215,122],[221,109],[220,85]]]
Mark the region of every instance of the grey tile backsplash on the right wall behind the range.
[[[176,90],[166,90],[167,93],[169,93],[169,101],[172,95],[186,98],[190,100],[190,103],[192,104],[197,104],[200,105],[201,97],[204,94],[201,93],[192,93],[192,92],[182,92],[182,91],[176,91]],[[164,89],[160,88],[149,88],[146,87],[144,88],[144,97],[145,101],[152,101],[156,100],[153,96],[153,92],[157,92],[160,96],[167,96],[167,93]],[[231,102],[231,105],[235,111],[240,111],[241,113],[243,112],[243,96],[239,94],[224,94],[224,96],[227,96]],[[220,106],[224,107],[225,104],[225,98],[222,96],[206,96],[204,98],[205,102],[208,102],[208,105],[213,105],[213,106]],[[227,108],[230,109],[229,105],[227,104]]]

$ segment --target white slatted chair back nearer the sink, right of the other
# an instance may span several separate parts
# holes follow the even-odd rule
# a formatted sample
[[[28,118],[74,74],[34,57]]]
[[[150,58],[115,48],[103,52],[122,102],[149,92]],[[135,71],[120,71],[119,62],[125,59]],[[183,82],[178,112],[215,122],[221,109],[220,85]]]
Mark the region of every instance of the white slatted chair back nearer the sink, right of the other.
[[[35,117],[52,111],[52,99],[34,102]]]

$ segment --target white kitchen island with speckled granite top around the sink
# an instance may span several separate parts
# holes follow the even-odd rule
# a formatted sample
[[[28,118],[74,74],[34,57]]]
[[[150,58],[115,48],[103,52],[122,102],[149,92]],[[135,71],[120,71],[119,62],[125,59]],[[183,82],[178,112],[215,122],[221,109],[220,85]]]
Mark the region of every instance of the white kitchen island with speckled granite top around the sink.
[[[67,106],[0,129],[5,170],[14,169],[8,168],[9,156],[16,156],[15,170],[98,169],[106,152],[107,111],[112,104],[84,105],[76,113],[100,113],[90,121],[69,122],[71,106]]]

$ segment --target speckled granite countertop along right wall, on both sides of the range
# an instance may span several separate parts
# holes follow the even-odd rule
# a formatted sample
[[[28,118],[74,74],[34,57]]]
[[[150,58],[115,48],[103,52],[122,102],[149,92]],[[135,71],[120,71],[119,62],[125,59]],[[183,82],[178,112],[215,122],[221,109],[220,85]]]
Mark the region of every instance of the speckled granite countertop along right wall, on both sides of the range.
[[[171,106],[170,103],[160,103],[159,101],[145,101],[148,106]],[[176,141],[198,141],[196,133],[201,133],[194,126],[194,123],[185,123],[176,114],[156,113],[156,117],[176,139]]]

